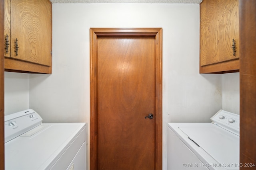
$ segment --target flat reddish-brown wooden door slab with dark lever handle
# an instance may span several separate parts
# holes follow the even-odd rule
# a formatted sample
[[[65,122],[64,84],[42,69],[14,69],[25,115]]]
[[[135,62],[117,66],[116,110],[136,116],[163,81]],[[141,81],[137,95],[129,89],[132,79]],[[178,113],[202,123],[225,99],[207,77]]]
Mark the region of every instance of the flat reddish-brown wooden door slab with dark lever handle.
[[[155,168],[154,37],[99,37],[97,169]]]

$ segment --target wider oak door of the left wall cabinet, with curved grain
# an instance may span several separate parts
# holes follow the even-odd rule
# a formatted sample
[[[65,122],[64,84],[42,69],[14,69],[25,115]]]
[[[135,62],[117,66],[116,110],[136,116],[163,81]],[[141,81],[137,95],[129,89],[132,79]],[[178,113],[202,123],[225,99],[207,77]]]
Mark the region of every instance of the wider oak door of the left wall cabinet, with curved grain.
[[[48,0],[11,0],[12,58],[51,66],[51,10]]]

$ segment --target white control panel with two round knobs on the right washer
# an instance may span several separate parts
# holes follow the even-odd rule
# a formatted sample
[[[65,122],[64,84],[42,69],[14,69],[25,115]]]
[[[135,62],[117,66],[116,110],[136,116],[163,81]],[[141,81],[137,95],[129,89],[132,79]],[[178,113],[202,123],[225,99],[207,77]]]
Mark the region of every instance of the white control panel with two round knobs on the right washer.
[[[240,115],[220,110],[211,118],[212,123],[236,135],[240,132]]]

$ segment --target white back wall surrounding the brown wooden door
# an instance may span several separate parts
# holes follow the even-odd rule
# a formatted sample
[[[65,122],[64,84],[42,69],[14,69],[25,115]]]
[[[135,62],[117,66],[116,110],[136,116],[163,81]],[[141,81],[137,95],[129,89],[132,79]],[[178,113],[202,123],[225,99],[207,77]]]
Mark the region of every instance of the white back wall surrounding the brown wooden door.
[[[52,74],[29,74],[16,80],[29,79],[26,107],[38,111],[44,123],[90,123],[90,27],[163,28],[166,169],[166,124],[210,122],[222,108],[222,75],[199,74],[199,4],[52,4]],[[8,84],[9,79],[5,77]],[[11,99],[5,100],[8,110]]]

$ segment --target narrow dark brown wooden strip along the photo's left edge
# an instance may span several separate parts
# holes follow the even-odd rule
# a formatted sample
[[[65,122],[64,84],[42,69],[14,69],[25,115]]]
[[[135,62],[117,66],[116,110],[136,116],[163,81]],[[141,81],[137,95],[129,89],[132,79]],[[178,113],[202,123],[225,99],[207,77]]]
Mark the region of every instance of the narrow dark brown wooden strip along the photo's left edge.
[[[4,0],[0,0],[0,39],[4,41]],[[0,169],[4,170],[4,46],[0,46]]]

